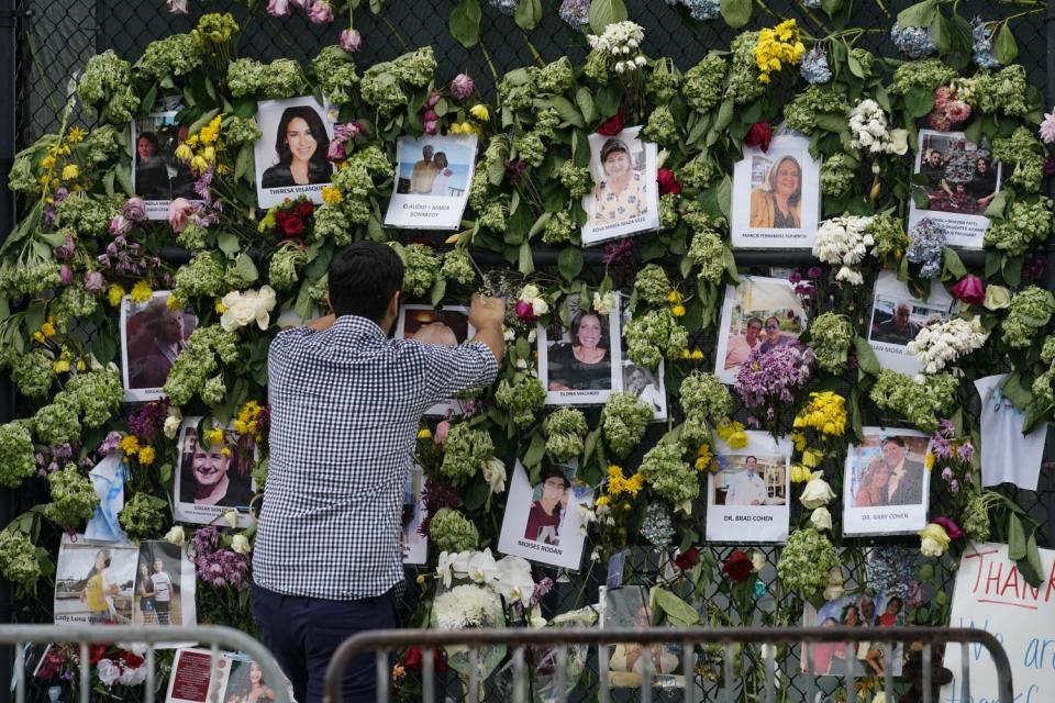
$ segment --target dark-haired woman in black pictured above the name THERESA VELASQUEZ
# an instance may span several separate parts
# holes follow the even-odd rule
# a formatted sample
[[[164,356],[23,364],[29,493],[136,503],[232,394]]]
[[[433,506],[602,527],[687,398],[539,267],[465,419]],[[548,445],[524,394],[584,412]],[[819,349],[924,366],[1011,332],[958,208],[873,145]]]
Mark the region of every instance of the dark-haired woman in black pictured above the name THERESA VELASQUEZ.
[[[278,121],[278,163],[264,171],[262,188],[329,183],[333,166],[326,159],[330,137],[319,113],[309,105],[286,108]]]

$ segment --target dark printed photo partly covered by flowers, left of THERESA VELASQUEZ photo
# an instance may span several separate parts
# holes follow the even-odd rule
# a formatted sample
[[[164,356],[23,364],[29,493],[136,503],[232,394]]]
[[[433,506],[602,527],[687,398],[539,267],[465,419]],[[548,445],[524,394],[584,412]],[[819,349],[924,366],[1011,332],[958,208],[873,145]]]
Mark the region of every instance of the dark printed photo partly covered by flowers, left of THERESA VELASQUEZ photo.
[[[151,220],[165,220],[168,203],[176,198],[200,200],[195,192],[195,175],[176,157],[176,147],[187,141],[189,125],[179,124],[178,112],[152,112],[132,122],[132,190],[146,201]]]

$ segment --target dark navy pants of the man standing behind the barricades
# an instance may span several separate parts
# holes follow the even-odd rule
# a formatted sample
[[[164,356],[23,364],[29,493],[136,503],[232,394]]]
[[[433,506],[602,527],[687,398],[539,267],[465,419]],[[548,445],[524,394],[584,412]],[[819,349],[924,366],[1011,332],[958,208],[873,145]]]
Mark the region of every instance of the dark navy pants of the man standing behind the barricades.
[[[360,601],[327,601],[282,595],[254,583],[252,609],[260,641],[289,677],[298,703],[322,701],[326,666],[341,643],[365,629],[397,626],[393,591]],[[344,703],[374,703],[374,652],[354,657],[345,671]]]

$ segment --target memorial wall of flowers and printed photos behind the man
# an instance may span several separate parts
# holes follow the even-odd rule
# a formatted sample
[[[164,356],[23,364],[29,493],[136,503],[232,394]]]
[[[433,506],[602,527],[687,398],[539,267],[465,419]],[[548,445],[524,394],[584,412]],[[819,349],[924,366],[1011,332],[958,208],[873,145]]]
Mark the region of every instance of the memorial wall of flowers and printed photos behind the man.
[[[752,11],[668,2],[734,27]],[[490,4],[524,30],[543,12]],[[837,25],[851,3],[802,4]],[[406,264],[397,336],[463,342],[473,292],[508,301],[495,386],[419,434],[409,625],[589,625],[540,603],[553,568],[613,558],[654,623],[681,625],[891,594],[899,623],[945,624],[941,574],[970,542],[1041,580],[1042,526],[998,489],[1036,489],[1055,406],[1055,116],[1008,18],[926,0],[889,56],[865,30],[776,19],[676,66],[619,0],[559,14],[585,63],[540,58],[495,94],[429,46],[362,65],[353,26],[308,65],[241,58],[227,14],[87,63],[60,129],[14,163],[0,249],[0,364],[24,399],[0,484],[35,503],[0,532],[21,595],[54,590],[56,622],[162,622],[138,585],[168,555],[184,622],[252,629],[268,344],[326,312],[327,266],[362,239]],[[467,46],[479,15],[451,16]],[[747,267],[758,249],[813,264]],[[891,535],[909,537],[875,539]],[[93,606],[104,548],[147,574]],[[124,655],[100,685],[137,682]]]

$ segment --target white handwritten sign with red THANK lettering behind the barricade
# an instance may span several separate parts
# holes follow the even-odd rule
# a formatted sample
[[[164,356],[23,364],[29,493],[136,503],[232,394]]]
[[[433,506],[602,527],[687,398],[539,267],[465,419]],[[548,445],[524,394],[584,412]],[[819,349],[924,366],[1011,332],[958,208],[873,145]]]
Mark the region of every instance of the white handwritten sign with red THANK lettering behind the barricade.
[[[1017,703],[1055,700],[1055,551],[1041,549],[1043,581],[1026,583],[1008,546],[976,545],[959,561],[953,591],[953,627],[985,629],[1003,645],[1011,660]],[[997,669],[988,650],[969,646],[970,696],[964,695],[962,648],[945,651],[952,684],[942,689],[943,703],[988,703],[997,700]]]

